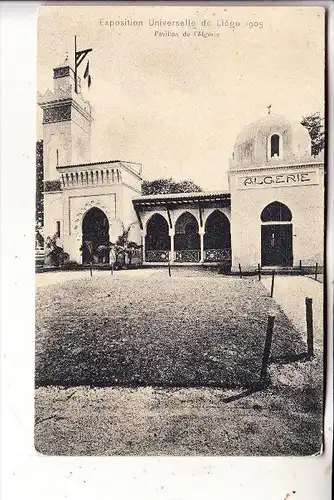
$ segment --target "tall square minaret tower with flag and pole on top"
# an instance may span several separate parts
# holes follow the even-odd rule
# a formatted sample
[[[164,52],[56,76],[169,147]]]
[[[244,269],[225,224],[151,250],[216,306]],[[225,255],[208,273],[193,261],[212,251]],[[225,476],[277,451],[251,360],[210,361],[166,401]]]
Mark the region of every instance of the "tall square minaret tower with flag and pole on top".
[[[64,196],[58,167],[90,162],[91,108],[82,97],[77,69],[91,50],[77,51],[75,38],[73,66],[66,55],[53,69],[53,90],[38,95],[43,110],[45,237],[64,236]],[[89,86],[90,80],[88,76]]]

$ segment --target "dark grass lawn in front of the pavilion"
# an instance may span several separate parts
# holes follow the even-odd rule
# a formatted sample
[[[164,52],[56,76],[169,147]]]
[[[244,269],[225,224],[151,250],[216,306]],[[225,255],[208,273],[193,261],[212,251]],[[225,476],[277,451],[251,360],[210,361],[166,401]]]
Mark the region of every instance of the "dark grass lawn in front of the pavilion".
[[[211,273],[210,273],[211,274]],[[36,385],[249,387],[305,343],[256,278],[93,276],[37,292]]]

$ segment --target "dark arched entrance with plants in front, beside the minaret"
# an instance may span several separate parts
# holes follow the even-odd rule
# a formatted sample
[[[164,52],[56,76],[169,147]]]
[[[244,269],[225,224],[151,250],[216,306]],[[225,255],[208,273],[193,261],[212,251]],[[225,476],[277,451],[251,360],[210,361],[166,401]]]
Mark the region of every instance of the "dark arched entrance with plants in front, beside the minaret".
[[[82,263],[109,263],[109,222],[106,214],[93,207],[82,221]]]

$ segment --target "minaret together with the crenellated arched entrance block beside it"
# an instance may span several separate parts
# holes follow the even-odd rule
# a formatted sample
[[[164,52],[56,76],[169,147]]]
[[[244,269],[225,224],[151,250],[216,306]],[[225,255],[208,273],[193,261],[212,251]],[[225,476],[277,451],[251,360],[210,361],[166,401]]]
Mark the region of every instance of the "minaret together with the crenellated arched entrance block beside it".
[[[87,264],[96,249],[124,228],[140,243],[132,198],[141,193],[141,165],[91,162],[92,115],[65,62],[54,69],[54,88],[39,95],[43,109],[44,236],[55,234],[72,262]]]

